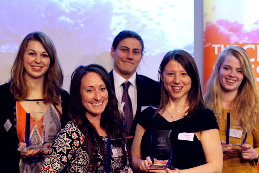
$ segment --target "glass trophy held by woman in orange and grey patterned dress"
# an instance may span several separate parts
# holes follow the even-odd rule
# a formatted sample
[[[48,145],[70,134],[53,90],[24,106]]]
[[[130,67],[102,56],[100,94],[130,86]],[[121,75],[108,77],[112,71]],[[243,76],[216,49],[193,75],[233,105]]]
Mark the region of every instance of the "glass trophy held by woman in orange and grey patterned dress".
[[[41,113],[41,112],[38,112]],[[29,152],[30,150],[40,149],[42,151],[48,151],[49,149],[44,146],[45,142],[45,131],[42,126],[42,135],[40,136],[38,128],[31,126],[31,113],[26,113],[25,120],[25,143],[26,147],[20,146],[17,150],[20,152]],[[32,129],[30,129],[32,127]],[[30,133],[31,132],[31,133]],[[32,140],[30,140],[32,138]]]

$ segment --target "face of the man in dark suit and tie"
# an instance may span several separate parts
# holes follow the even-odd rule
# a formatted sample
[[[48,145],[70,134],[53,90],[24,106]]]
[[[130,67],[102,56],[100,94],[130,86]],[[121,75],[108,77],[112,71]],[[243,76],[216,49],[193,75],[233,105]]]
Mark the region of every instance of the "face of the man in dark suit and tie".
[[[114,70],[125,79],[136,72],[142,58],[142,45],[136,38],[126,38],[119,42],[116,50],[111,48]]]

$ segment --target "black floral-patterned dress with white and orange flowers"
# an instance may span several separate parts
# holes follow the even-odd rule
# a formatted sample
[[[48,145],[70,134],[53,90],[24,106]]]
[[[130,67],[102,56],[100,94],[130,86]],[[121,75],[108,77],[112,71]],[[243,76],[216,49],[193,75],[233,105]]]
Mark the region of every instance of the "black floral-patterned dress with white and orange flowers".
[[[106,147],[107,137],[101,137]],[[63,169],[66,172],[105,172],[106,162],[100,151],[97,152],[97,158],[99,160],[98,167],[93,170],[84,147],[84,135],[77,125],[70,121],[65,128],[60,130],[54,140],[40,173],[61,172]],[[114,160],[112,160],[112,163],[114,163]],[[120,172],[123,168],[118,165],[117,169],[117,171],[111,170],[111,172]]]

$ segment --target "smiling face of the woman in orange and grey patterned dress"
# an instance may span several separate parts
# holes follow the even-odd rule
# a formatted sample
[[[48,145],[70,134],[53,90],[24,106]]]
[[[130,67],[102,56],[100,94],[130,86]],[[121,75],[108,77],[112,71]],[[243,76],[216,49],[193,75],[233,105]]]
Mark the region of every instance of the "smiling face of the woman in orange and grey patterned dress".
[[[36,40],[28,41],[23,63],[25,69],[25,78],[43,78],[50,66],[50,57],[43,45]]]

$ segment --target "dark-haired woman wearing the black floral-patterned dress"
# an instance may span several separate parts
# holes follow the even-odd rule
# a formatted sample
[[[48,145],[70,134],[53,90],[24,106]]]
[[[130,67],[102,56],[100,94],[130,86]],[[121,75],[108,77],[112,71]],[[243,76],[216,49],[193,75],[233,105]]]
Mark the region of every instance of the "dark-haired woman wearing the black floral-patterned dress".
[[[70,102],[72,121],[60,130],[41,172],[104,172],[107,139],[125,138],[124,119],[107,71],[98,64],[77,67],[71,77]],[[127,155],[123,153],[125,160]],[[117,161],[111,160],[115,165],[111,172],[123,171]]]

